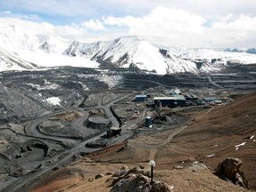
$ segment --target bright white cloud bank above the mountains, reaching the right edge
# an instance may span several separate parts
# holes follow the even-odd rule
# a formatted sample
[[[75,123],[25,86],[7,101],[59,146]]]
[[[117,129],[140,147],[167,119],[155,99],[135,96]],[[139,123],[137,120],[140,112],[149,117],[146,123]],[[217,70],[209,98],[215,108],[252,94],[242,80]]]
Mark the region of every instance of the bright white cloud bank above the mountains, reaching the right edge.
[[[157,7],[143,17],[107,17],[105,28],[121,28],[125,35],[178,47],[255,46],[256,17],[227,14],[216,20],[176,8]],[[117,29],[116,29],[117,30]],[[251,40],[251,41],[250,41]]]

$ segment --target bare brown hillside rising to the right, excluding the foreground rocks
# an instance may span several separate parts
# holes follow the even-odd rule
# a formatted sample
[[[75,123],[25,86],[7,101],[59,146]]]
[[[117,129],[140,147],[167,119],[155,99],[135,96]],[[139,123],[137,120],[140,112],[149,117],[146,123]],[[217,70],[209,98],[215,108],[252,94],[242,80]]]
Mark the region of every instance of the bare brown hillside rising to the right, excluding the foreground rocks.
[[[240,170],[253,191],[256,189],[255,99],[256,92],[252,92],[226,106],[203,111],[185,108],[180,116],[190,119],[182,126],[102,148],[44,175],[33,184],[32,191],[110,191],[108,172],[116,172],[123,165],[139,164],[149,169],[150,159],[156,161],[155,179],[172,186],[173,191],[246,191],[214,173],[219,162],[229,156],[243,161]],[[201,161],[210,169],[187,168]],[[90,180],[97,173],[103,173],[100,179]]]

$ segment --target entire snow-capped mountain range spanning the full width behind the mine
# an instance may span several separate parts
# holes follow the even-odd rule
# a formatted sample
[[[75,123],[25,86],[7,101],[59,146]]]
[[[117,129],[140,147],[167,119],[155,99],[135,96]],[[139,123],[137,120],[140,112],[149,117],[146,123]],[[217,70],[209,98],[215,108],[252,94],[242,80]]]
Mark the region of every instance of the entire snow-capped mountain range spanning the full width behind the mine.
[[[1,20],[0,28],[0,44],[3,48],[0,70],[35,68],[24,61],[29,60],[39,67],[140,68],[164,75],[180,72],[211,73],[228,65],[256,63],[255,54],[160,48],[137,36],[85,44],[45,35],[36,29],[22,28]],[[22,67],[15,68],[17,62]]]

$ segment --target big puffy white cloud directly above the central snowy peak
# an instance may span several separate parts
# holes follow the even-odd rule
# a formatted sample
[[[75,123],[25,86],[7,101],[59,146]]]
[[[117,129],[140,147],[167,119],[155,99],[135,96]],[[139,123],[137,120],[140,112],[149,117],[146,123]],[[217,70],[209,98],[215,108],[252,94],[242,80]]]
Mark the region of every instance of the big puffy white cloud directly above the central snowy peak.
[[[191,34],[202,34],[206,29],[205,22],[201,16],[164,7],[157,7],[142,17],[108,16],[100,20],[104,28],[114,32],[114,35],[123,32],[123,36],[140,36],[152,43],[165,45],[172,44],[176,39],[188,41],[187,36]]]

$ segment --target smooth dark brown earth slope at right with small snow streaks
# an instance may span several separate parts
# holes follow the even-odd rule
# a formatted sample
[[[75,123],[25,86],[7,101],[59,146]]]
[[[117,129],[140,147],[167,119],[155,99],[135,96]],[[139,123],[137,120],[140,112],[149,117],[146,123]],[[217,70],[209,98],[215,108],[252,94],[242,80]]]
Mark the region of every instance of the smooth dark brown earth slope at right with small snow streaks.
[[[251,188],[256,189],[256,92],[245,95],[227,106],[214,107],[196,119],[173,142],[186,148],[196,159],[216,168],[228,156],[240,158]],[[241,144],[241,145],[240,145]],[[239,146],[240,145],[240,146]]]

